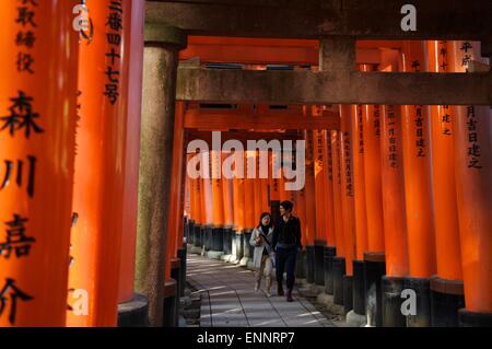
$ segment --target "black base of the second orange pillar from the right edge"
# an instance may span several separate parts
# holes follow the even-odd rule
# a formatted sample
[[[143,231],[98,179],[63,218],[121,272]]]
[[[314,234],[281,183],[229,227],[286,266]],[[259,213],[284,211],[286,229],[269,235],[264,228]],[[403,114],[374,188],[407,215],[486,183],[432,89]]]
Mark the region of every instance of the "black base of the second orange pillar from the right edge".
[[[457,327],[458,311],[465,307],[462,281],[431,278],[431,322],[433,327]]]

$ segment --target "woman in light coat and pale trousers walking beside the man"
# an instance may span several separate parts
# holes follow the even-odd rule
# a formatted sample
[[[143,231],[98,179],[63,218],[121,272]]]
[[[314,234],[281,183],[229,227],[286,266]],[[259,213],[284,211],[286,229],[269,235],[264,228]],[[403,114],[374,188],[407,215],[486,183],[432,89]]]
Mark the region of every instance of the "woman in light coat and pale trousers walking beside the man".
[[[273,235],[273,228],[271,224],[270,213],[263,212],[260,217],[260,222],[251,233],[249,244],[255,247],[253,255],[253,264],[256,269],[256,284],[255,291],[258,292],[261,284],[261,278],[265,275],[267,283],[267,296],[271,296],[271,276],[273,270],[273,249],[271,248],[271,237]]]

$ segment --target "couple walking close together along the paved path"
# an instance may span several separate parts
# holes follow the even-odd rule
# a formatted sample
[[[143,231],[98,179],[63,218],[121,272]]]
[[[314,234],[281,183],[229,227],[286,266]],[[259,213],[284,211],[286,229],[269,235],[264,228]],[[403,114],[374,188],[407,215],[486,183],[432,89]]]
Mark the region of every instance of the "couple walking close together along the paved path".
[[[292,214],[293,203],[280,203],[280,219],[272,224],[268,212],[261,213],[260,222],[253,231],[249,244],[255,247],[253,264],[256,269],[255,291],[259,291],[262,276],[266,277],[267,295],[271,296],[273,264],[277,271],[277,294],[284,295],[283,272],[286,272],[286,301],[292,302],[295,282],[295,261],[303,248],[301,243],[301,221]]]

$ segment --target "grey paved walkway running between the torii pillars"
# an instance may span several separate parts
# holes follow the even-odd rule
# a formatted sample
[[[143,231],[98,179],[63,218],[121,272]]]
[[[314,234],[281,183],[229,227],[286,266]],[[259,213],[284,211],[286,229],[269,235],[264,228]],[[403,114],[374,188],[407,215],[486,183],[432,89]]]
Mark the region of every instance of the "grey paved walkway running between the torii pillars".
[[[335,326],[296,290],[292,303],[284,296],[267,298],[263,291],[255,292],[254,272],[244,267],[189,254],[187,278],[202,293],[202,327]],[[274,282],[272,291],[277,291]]]

